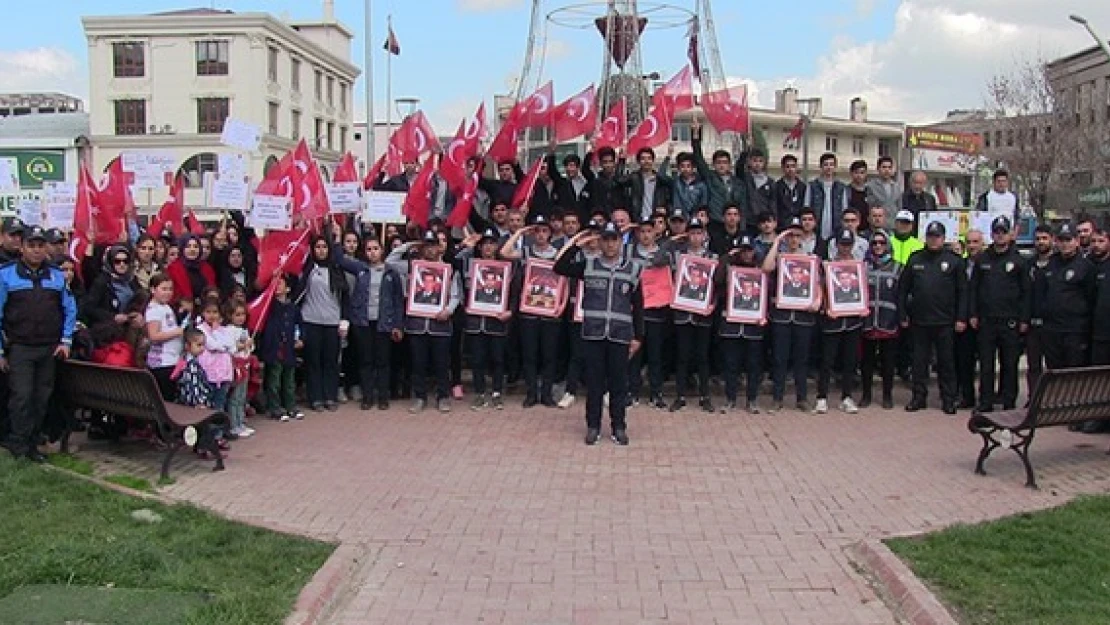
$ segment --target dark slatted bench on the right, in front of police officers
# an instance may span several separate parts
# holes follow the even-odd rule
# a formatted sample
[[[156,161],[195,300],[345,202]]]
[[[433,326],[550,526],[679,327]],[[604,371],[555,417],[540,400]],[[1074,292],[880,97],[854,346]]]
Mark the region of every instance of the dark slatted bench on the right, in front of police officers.
[[[1026,467],[1026,486],[1037,487],[1029,463],[1029,445],[1039,427],[1110,420],[1110,366],[1084,366],[1046,371],[1021,410],[972,413],[968,430],[982,436],[975,472],[986,475],[982,464],[997,447],[1013,450]]]

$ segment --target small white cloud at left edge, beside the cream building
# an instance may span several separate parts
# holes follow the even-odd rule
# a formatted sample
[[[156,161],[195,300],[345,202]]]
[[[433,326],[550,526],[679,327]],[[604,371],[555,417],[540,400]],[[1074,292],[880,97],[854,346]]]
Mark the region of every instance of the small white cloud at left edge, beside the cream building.
[[[0,51],[0,91],[61,91],[87,99],[89,80],[75,57],[60,48]]]

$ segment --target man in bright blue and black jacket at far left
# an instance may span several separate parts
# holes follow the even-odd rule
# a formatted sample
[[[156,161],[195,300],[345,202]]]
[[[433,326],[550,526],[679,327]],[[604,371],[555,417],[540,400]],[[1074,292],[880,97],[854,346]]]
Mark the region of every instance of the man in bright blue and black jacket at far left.
[[[61,270],[47,262],[47,233],[24,233],[18,261],[0,268],[0,371],[9,372],[13,456],[43,462],[36,446],[54,389],[54,363],[70,354],[77,304]]]

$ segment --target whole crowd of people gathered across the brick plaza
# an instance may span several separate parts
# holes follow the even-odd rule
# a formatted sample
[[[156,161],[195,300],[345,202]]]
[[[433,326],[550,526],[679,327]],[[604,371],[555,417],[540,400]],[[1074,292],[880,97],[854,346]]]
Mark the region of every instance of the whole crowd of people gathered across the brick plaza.
[[[57,431],[54,363],[71,356],[148,367],[168,401],[225,412],[225,446],[255,433],[252,414],[284,422],[349,401],[389,410],[400,399],[412,413],[430,402],[450,412],[464,399],[475,411],[502,410],[514,386],[525,409],[567,410],[584,390],[587,444],[601,436],[605,406],[613,440],[628,444],[629,406],[680,412],[696,401],[706,412],[777,413],[786,410],[788,379],[795,410],[826,413],[831,402],[856,413],[872,403],[876,375],[876,403],[891,410],[900,373],[912,384],[905,409],[919,411],[935,369],[946,414],[987,412],[1017,405],[1022,352],[1029,389],[1045,366],[1110,364],[1110,326],[1096,323],[1110,312],[1107,234],[1090,221],[1040,226],[1032,258],[1022,255],[1005,171],[979,199],[995,215],[990,232],[956,240],[944,223],[919,223],[936,205],[924,175],[910,175],[902,191],[888,158],[874,177],[856,161],[841,181],[836,155],[824,154],[819,175],[804,181],[786,155],[774,180],[758,149],[735,162],[726,151],[706,161],[697,128],[676,173],[670,155],[657,168],[655,152],[640,150],[626,171],[620,154],[602,149],[596,170],[593,152],[564,158],[561,169],[553,151],[519,208],[512,206],[519,167],[494,163],[496,178],[481,184],[466,229],[444,225],[454,202],[444,189],[433,193],[426,228],[327,220],[301,271],[272,276],[259,275],[258,236],[239,214],[204,235],[143,233],[132,223],[125,241],[90,248],[80,262],[67,255],[63,233],[8,219],[0,240],[4,444],[42,460],[39,444]],[[375,188],[405,191],[416,173],[406,164]],[[817,275],[783,264],[805,258],[816,260]],[[679,280],[683,259],[698,262]],[[467,306],[482,260],[514,268],[508,305],[495,314]],[[453,268],[447,284],[417,276],[430,280],[426,301],[408,296],[416,261]],[[519,311],[524,268],[534,261],[568,281],[554,315]],[[827,292],[823,261],[866,266],[866,311],[833,314],[830,300],[860,296],[850,274],[837,282],[845,294]],[[766,274],[771,298],[758,317],[726,314],[731,268]],[[712,281],[713,305],[700,313],[668,305],[658,290],[672,281],[644,280],[660,269],[692,300]],[[785,296],[806,299],[807,308],[774,296],[780,272]],[[252,333],[249,302],[271,280],[273,303]],[[481,298],[496,302],[498,280],[483,276]],[[749,282],[738,296],[753,300],[758,289]],[[442,306],[410,314],[413,301]],[[768,374],[770,393],[761,396]],[[715,376],[723,403],[713,397]]]

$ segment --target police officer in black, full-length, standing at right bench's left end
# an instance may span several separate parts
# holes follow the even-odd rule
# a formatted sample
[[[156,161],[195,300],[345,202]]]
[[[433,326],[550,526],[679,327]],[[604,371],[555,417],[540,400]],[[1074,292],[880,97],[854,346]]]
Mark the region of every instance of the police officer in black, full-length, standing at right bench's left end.
[[[1013,410],[1021,336],[1029,331],[1029,271],[1010,236],[1010,220],[995,218],[990,238],[973,261],[968,303],[968,321],[979,332],[979,412],[993,410],[996,354],[1002,410]]]

